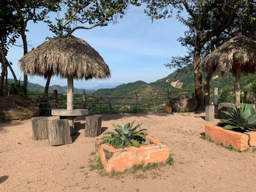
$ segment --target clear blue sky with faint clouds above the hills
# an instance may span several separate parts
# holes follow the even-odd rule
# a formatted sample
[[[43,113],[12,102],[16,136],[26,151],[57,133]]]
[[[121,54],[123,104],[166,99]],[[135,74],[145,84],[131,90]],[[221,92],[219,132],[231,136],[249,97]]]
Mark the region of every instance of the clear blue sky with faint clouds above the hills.
[[[56,16],[56,15],[54,15]],[[26,34],[29,50],[41,45],[45,37],[52,37],[45,23],[29,23]],[[154,20],[146,16],[143,7],[129,7],[127,14],[119,23],[90,30],[77,30],[75,37],[84,39],[102,55],[111,70],[111,77],[106,80],[78,80],[76,88],[93,88],[99,85],[120,85],[143,80],[154,82],[166,77],[170,69],[164,64],[171,56],[184,55],[186,47],[177,41],[187,28],[178,23],[175,15],[166,20]],[[17,44],[21,45],[19,40]],[[18,67],[18,59],[23,56],[22,47],[11,47],[7,58],[12,61],[18,78],[23,75]],[[11,77],[11,73],[9,72]],[[29,82],[45,85],[46,80],[38,76],[29,76]],[[53,77],[50,85],[67,85],[66,79]]]

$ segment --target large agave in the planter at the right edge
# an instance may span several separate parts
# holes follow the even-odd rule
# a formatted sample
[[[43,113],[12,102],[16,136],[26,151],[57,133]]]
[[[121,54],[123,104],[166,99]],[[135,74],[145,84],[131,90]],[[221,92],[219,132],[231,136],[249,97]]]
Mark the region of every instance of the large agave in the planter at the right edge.
[[[252,104],[241,104],[241,108],[233,107],[233,112],[225,112],[228,119],[219,121],[219,126],[240,132],[256,131],[256,114],[253,112]]]

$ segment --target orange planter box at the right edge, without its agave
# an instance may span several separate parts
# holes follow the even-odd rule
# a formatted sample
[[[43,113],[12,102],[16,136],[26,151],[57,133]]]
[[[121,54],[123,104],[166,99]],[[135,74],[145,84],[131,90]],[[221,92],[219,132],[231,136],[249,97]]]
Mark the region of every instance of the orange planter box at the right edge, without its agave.
[[[205,126],[205,134],[214,142],[222,142],[224,145],[232,145],[236,150],[247,150],[256,146],[256,131],[242,134],[236,131],[226,130],[222,127],[208,124]],[[250,137],[250,142],[249,142]]]

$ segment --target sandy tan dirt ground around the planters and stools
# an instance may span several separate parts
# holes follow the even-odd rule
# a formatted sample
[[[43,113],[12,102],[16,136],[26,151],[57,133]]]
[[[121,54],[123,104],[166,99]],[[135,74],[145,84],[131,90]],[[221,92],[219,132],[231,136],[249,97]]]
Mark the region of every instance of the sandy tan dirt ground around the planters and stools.
[[[256,153],[229,151],[200,139],[208,123],[203,116],[103,115],[102,127],[108,131],[121,120],[143,123],[174,158],[173,166],[149,171],[147,177],[127,174],[120,179],[89,171],[94,139],[83,137],[83,129],[72,144],[52,147],[48,140],[32,139],[31,120],[1,123],[0,191],[256,191]],[[84,128],[84,123],[76,126]]]

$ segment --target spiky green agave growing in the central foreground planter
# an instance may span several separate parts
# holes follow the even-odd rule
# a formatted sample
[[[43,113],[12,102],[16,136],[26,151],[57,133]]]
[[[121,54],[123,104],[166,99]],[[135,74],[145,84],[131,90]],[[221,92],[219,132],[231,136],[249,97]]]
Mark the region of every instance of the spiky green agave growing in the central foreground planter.
[[[133,120],[132,123],[127,123],[125,125],[121,122],[121,126],[113,124],[116,133],[111,131],[106,132],[105,134],[110,136],[103,137],[100,144],[108,143],[115,148],[129,146],[140,147],[142,142],[146,141],[146,134],[143,132],[146,131],[146,129],[137,130],[141,124],[132,128],[134,122],[135,120]]]

